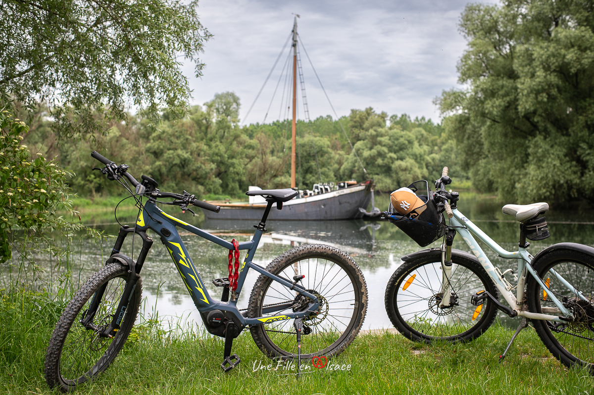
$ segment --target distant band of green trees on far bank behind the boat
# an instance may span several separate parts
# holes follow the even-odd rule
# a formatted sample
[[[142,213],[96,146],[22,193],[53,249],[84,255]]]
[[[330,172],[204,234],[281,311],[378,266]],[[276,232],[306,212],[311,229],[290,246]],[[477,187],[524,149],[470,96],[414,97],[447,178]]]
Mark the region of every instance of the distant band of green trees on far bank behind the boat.
[[[249,185],[288,187],[291,121],[239,127],[240,105],[234,93],[220,93],[204,107],[190,108],[184,119],[163,112],[154,124],[140,114],[130,117],[127,125],[112,124],[94,141],[72,138],[57,148],[49,121],[40,121],[26,143],[47,156],[58,155],[61,165],[77,175],[70,179],[71,187],[93,199],[98,194],[122,193],[119,185],[91,170],[97,166],[90,157],[93,150],[116,163],[126,163],[137,178],[141,174],[153,177],[162,190],[185,189],[200,198],[241,196]],[[440,125],[403,114],[391,116],[387,128],[386,119],[386,113],[367,108],[352,110],[340,120],[378,189],[393,191],[416,179],[435,179],[444,165],[459,181],[466,179],[457,165],[453,143],[445,140]],[[298,121],[296,140],[299,188],[366,179],[339,122],[330,116]]]

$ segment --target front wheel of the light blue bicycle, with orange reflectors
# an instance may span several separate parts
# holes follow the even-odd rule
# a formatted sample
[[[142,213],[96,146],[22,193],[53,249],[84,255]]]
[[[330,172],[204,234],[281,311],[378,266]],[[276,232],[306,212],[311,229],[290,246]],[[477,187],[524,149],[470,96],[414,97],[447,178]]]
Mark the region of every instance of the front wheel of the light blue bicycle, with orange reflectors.
[[[452,251],[450,303],[441,304],[441,252],[407,261],[396,269],[386,287],[386,311],[394,327],[410,340],[460,342],[481,336],[495,320],[497,308],[488,299],[480,306],[470,303],[475,293],[486,290],[498,298],[498,290],[485,269]]]

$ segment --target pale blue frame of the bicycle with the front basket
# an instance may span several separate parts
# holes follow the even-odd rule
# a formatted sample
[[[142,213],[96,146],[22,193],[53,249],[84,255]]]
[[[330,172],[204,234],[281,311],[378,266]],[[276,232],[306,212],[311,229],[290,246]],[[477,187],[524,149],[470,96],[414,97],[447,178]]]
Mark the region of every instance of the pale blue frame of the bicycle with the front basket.
[[[571,312],[555,297],[555,295],[549,290],[549,288],[545,285],[545,283],[538,276],[538,274],[536,274],[536,271],[530,265],[533,257],[526,251],[526,248],[519,247],[518,251],[507,251],[500,245],[498,245],[495,241],[493,241],[493,239],[486,235],[486,233],[479,229],[479,227],[472,223],[472,221],[470,221],[462,213],[460,213],[460,211],[457,210],[457,208],[452,208],[452,212],[454,216],[450,219],[450,225],[456,226],[457,232],[460,234],[460,236],[462,236],[462,238],[470,248],[470,251],[472,251],[475,257],[481,263],[481,266],[485,268],[486,273],[489,275],[489,277],[493,279],[495,285],[497,286],[497,289],[499,290],[507,304],[510,305],[513,311],[517,312],[517,315],[530,318],[532,320],[547,320],[557,322],[567,321],[562,320],[557,315],[538,314],[525,311],[523,309],[522,304],[524,299],[524,287],[526,285],[526,274],[529,273],[532,277],[534,277],[534,279],[536,280],[536,282],[538,282],[542,289],[547,291],[547,295],[551,298],[551,301],[555,304],[555,306],[557,306],[557,308],[560,310],[561,314],[564,317],[573,317]],[[516,295],[514,295],[513,292],[511,292],[511,290],[513,290],[514,287],[512,287],[511,284],[503,277],[501,271],[492,265],[491,261],[489,261],[489,258],[486,257],[485,252],[476,242],[473,235],[477,236],[482,242],[484,242],[500,257],[507,259],[517,259],[518,279],[516,286]],[[557,279],[560,280],[561,283],[563,283],[565,286],[568,287],[568,289],[576,293],[576,295],[580,295],[581,298],[584,298],[584,296],[581,295],[580,292],[577,292],[577,290],[573,286],[571,286],[570,283],[568,283],[565,279],[563,279],[563,277],[560,276],[560,274],[558,274],[552,269],[549,270],[549,273],[551,273],[552,276],[557,277]]]

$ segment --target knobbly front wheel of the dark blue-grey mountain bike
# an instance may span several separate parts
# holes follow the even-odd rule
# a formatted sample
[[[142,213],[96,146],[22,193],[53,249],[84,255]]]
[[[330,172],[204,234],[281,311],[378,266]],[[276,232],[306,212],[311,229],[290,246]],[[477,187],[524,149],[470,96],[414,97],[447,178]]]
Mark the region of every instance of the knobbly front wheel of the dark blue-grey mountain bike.
[[[84,283],[64,309],[49,340],[45,357],[45,380],[50,388],[72,391],[77,385],[107,369],[118,355],[138,314],[141,279],[138,279],[129,298],[121,327],[115,336],[102,337],[100,333],[116,314],[127,277],[128,266],[119,262],[103,267]],[[105,292],[93,320],[83,326],[81,321],[86,316],[93,296],[103,287]]]

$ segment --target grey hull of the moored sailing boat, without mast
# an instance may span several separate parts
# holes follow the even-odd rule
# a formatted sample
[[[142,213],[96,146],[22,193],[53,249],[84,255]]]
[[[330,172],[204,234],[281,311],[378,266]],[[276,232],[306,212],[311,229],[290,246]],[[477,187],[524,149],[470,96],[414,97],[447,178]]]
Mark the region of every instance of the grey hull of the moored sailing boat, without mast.
[[[364,216],[359,207],[366,208],[371,201],[371,184],[359,185],[301,199],[287,201],[282,210],[276,204],[268,214],[269,220],[344,220]],[[232,207],[229,207],[232,206]],[[264,204],[221,204],[220,212],[203,210],[206,219],[260,220]],[[245,206],[245,207],[241,207]]]

